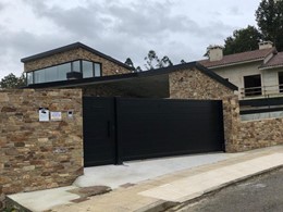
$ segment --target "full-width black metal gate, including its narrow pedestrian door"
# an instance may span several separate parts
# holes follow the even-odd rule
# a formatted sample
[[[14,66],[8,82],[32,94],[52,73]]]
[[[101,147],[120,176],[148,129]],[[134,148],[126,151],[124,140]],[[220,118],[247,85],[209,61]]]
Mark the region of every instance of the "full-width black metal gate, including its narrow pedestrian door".
[[[88,166],[224,150],[222,101],[86,97],[84,129]]]

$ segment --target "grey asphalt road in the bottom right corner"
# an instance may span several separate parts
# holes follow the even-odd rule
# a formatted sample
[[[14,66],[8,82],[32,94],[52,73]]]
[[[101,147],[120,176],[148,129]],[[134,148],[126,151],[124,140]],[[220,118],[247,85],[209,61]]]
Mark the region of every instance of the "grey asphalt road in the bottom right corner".
[[[226,187],[176,211],[283,212],[283,169]]]

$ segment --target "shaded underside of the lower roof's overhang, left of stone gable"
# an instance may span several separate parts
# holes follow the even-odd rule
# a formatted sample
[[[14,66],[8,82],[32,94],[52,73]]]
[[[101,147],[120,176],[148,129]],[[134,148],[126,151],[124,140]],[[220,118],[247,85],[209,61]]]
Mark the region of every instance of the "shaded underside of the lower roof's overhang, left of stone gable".
[[[149,71],[150,72],[150,71]],[[26,88],[77,88],[108,86],[135,97],[169,98],[169,73],[131,73],[29,85]]]

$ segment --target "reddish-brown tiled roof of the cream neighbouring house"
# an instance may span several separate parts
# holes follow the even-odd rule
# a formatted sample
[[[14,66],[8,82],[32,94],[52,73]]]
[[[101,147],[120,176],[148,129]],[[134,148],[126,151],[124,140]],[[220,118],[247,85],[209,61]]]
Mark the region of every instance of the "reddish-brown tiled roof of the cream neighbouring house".
[[[209,61],[209,59],[207,59],[198,62],[206,67],[225,66],[225,65],[232,65],[232,64],[237,64],[237,63],[243,63],[243,62],[248,62],[254,60],[261,60],[261,59],[263,60],[271,52],[276,52],[276,49],[273,47],[270,49],[261,49],[261,50],[224,55],[223,59],[220,61],[211,62]]]

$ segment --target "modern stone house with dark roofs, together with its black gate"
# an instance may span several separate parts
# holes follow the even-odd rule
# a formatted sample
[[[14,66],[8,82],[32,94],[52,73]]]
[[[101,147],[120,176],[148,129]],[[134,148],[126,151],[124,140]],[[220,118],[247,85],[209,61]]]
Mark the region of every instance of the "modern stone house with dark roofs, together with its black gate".
[[[133,73],[82,43],[22,62],[27,88],[82,89],[85,165],[221,151],[225,144],[225,150],[232,149],[231,110],[222,100],[237,87],[196,62]],[[56,111],[53,104],[45,108]]]

